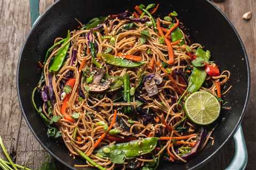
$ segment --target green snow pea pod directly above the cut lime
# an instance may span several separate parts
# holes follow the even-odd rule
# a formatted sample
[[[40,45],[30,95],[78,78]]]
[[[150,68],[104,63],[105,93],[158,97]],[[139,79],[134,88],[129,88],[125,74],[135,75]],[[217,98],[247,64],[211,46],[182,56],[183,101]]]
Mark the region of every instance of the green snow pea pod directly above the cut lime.
[[[194,67],[192,74],[189,77],[188,91],[190,93],[197,91],[204,83],[205,77],[206,72],[204,71],[204,68]]]

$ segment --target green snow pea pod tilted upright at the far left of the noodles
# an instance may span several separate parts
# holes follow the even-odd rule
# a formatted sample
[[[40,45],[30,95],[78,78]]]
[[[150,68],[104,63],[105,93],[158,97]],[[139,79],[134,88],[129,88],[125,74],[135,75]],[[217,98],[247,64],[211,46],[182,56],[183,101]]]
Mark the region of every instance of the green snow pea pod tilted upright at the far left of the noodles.
[[[68,31],[67,39],[63,42],[63,44],[65,44],[69,39],[70,39],[70,33]],[[60,70],[60,68],[65,60],[65,57],[68,53],[69,45],[70,45],[70,43],[66,44],[57,52],[56,56],[53,58],[53,62],[51,63],[50,71],[57,72]]]

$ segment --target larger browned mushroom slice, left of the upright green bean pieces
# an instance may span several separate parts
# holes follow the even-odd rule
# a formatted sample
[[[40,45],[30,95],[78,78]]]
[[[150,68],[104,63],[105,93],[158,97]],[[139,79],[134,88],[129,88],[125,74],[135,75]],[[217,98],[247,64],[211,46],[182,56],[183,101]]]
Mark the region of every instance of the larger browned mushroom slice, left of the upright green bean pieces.
[[[103,69],[98,69],[98,68],[93,68],[92,70],[93,75],[93,80],[92,83],[89,84],[89,90],[92,92],[102,92],[107,90],[110,87],[111,80],[105,80],[104,82],[101,82],[101,79],[105,75],[105,70]]]

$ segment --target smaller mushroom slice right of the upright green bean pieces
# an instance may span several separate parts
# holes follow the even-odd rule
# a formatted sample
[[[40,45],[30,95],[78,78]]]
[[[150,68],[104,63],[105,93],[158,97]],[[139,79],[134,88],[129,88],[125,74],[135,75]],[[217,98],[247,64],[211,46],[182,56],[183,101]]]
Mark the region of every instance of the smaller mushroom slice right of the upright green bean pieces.
[[[148,92],[148,96],[154,96],[158,94],[157,84],[161,84],[163,78],[158,74],[148,74],[145,77],[144,86]]]

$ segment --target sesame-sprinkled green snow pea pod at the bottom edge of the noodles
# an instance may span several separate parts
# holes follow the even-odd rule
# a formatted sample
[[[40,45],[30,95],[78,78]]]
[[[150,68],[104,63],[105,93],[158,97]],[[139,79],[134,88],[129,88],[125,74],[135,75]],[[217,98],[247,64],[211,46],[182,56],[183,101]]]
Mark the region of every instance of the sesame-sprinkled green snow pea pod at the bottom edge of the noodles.
[[[126,142],[126,143],[118,143],[118,144],[113,144],[106,146],[107,148],[110,149],[110,152],[106,154],[103,152],[103,148],[100,148],[97,152],[102,154],[105,157],[110,157],[111,154],[114,154],[118,151],[124,152],[125,157],[131,158],[131,157],[137,157],[140,155],[145,155],[151,152],[152,150],[155,149],[157,145],[157,140],[158,138],[145,138],[141,140],[134,140],[131,142]]]

